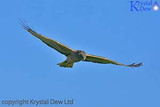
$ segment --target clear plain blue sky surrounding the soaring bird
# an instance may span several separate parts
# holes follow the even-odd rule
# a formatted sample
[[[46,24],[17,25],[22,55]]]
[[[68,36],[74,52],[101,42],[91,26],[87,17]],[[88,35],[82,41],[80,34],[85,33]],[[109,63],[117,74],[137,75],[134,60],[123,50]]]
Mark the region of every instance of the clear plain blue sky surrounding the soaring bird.
[[[1,102],[74,99],[69,106],[160,106],[160,11],[131,12],[129,0],[1,0],[0,13]],[[79,62],[61,68],[57,63],[65,57],[22,29],[19,19],[73,49],[143,66]]]

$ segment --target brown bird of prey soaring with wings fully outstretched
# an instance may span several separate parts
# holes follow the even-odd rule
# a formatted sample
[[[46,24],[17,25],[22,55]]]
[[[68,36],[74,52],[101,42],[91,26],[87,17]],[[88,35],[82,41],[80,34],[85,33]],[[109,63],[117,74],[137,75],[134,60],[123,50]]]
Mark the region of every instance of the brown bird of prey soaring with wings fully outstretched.
[[[46,36],[43,36],[43,35],[35,32],[28,25],[26,25],[23,21],[21,24],[22,24],[23,28],[25,30],[27,30],[29,33],[34,35],[36,38],[40,39],[42,42],[47,44],[49,47],[55,49],[56,51],[60,52],[61,54],[64,54],[67,57],[65,61],[57,64],[60,67],[72,68],[74,63],[79,62],[79,61],[87,61],[87,62],[94,62],[94,63],[100,63],[100,64],[115,64],[115,65],[126,66],[126,67],[142,66],[142,63],[138,63],[138,64],[133,63],[130,65],[125,65],[125,64],[110,60],[105,57],[86,54],[82,50],[73,50],[73,49],[69,48],[68,46],[66,46],[56,40],[50,39]]]

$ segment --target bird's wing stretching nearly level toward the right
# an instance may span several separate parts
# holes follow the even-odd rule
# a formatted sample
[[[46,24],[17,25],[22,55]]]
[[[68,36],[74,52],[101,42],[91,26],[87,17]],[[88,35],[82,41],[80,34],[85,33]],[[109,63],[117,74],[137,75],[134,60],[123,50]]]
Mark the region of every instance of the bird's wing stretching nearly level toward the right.
[[[139,66],[142,66],[142,63],[138,63],[138,64],[133,63],[133,64],[130,64],[130,65],[125,65],[125,64],[110,60],[108,58],[95,56],[95,55],[87,55],[86,59],[84,61],[94,62],[94,63],[101,63],[101,64],[115,64],[115,65],[121,65],[121,66],[127,66],[127,67],[139,67]]]

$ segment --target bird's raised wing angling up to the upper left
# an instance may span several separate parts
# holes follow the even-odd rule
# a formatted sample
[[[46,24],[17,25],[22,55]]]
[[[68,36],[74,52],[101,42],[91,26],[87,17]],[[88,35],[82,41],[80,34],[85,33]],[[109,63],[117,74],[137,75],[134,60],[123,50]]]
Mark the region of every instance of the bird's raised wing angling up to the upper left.
[[[27,26],[25,23],[21,22],[22,26],[25,30],[27,30],[29,33],[43,41],[45,44],[50,46],[51,48],[57,50],[58,52],[64,54],[65,56],[68,56],[70,53],[74,52],[75,50],[63,45],[62,43],[52,40],[50,38],[47,38],[46,36],[43,36],[41,34],[38,34],[37,32],[33,31],[29,26]]]

